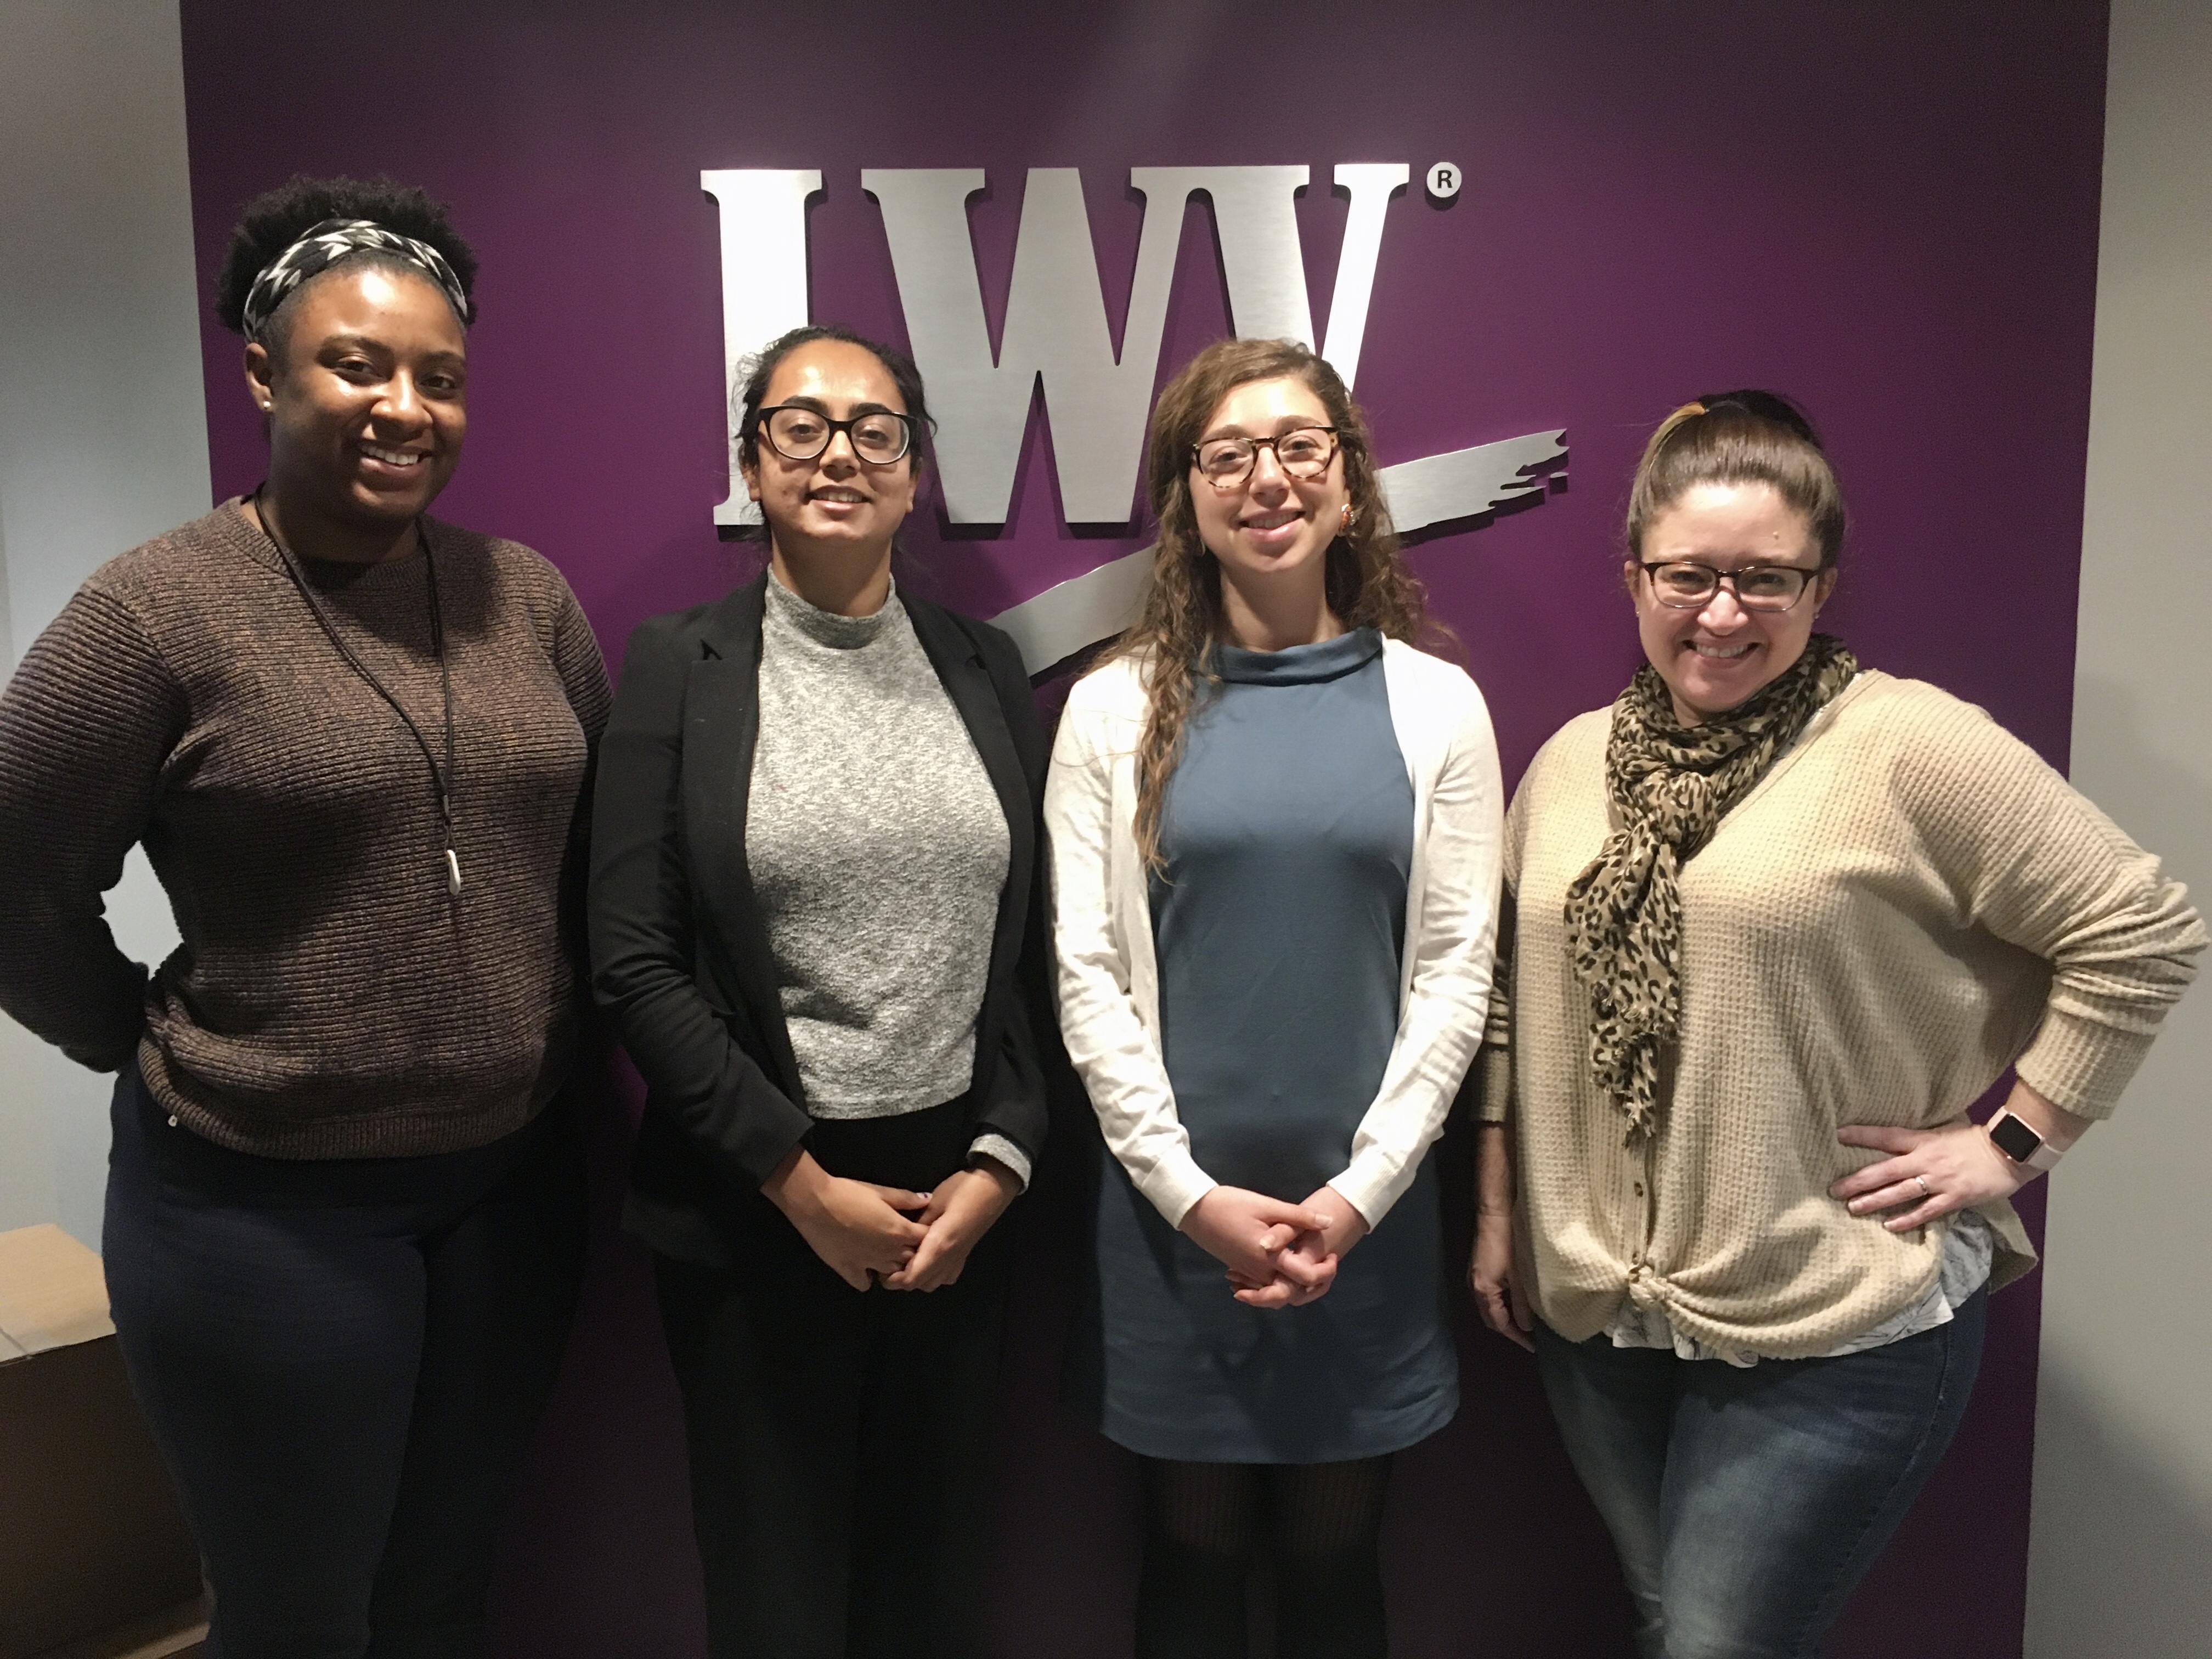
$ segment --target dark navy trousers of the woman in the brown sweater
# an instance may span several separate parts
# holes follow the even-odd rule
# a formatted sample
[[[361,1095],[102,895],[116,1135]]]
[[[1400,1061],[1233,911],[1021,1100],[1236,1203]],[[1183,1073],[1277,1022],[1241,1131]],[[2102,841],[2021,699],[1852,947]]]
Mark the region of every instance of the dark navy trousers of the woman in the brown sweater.
[[[208,1659],[473,1659],[584,1250],[566,1104],[411,1159],[230,1152],[115,1086],[104,1254]]]

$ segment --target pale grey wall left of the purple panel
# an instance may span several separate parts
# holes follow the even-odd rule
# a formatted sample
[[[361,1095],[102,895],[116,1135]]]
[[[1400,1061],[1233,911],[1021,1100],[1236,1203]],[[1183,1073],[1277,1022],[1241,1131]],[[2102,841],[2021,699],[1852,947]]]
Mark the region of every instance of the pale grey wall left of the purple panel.
[[[197,307],[177,0],[0,0],[0,672],[208,511]],[[142,960],[175,945],[142,854],[108,914]],[[0,1015],[0,1228],[100,1245],[108,1088]]]

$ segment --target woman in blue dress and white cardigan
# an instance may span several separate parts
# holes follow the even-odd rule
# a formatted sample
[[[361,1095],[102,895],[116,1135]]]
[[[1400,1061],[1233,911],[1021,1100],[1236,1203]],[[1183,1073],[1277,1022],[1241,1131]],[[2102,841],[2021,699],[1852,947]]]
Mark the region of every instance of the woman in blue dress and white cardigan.
[[[1502,790],[1365,422],[1290,341],[1152,414],[1141,624],[1068,695],[1060,1018],[1113,1152],[1079,1376],[1146,1489],[1139,1659],[1385,1652],[1391,1453],[1451,1420],[1427,1164],[1491,993]]]

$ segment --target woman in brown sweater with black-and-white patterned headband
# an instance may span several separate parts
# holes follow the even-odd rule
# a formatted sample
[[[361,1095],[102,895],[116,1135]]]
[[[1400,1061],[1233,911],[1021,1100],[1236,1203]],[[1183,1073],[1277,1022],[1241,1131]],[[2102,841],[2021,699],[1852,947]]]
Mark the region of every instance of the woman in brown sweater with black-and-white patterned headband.
[[[476,259],[389,181],[246,208],[268,480],[102,566],[0,697],[0,1006],[115,1071],[106,1276],[210,1659],[476,1655],[582,1263],[560,1102],[608,690],[560,573],[429,504]],[[144,845],[181,947],[100,894]]]

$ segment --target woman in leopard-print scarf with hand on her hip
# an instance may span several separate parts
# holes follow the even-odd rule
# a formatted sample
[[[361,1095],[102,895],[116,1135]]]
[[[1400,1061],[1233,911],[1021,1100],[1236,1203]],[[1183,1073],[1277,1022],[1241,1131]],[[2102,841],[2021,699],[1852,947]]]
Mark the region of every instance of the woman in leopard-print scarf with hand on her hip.
[[[1668,416],[1621,566],[1648,664],[1506,823],[1473,1290],[1537,1354],[1648,1659],[1818,1652],[2033,1263],[2008,1199],[2205,945],[2024,743],[1814,633],[1843,524],[1785,400]]]

